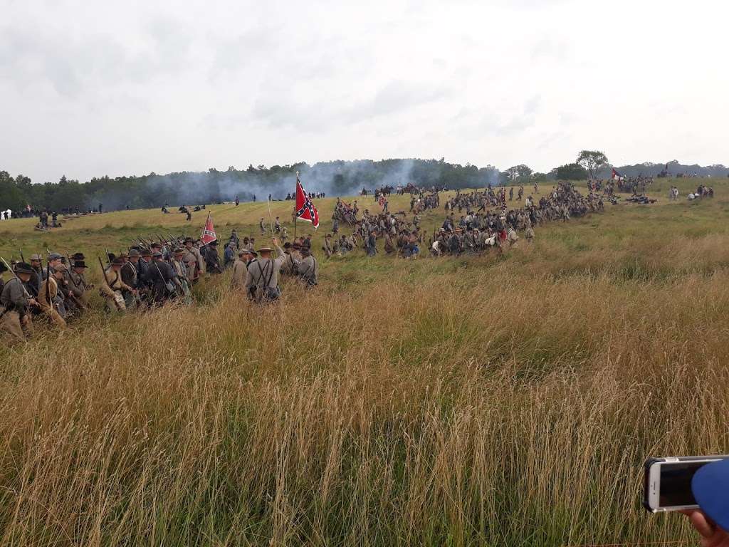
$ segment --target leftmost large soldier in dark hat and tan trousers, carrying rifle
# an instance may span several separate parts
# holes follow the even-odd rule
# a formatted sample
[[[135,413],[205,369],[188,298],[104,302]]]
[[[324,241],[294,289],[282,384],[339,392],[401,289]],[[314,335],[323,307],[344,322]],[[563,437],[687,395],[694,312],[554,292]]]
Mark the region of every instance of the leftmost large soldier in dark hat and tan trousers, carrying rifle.
[[[0,295],[0,330],[8,333],[12,341],[22,342],[33,333],[29,309],[38,305],[26,285],[34,271],[24,262],[15,264],[12,271],[15,276],[8,280]]]

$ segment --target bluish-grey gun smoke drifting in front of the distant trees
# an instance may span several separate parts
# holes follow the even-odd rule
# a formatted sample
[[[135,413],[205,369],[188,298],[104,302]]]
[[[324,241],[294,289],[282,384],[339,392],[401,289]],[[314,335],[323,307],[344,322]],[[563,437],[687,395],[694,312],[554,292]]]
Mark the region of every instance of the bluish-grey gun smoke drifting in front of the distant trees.
[[[249,166],[245,170],[229,168],[227,171],[210,169],[207,172],[182,172],[165,175],[149,174],[120,179],[95,179],[90,185],[106,182],[87,196],[87,204],[104,203],[107,210],[126,206],[158,207],[194,205],[233,201],[284,199],[295,192],[296,171],[308,192],[324,192],[329,197],[355,195],[365,187],[408,183],[420,187],[445,186],[483,187],[496,184],[499,171],[491,166],[456,166],[444,160],[356,160],[316,163],[296,163],[290,166],[265,168]]]

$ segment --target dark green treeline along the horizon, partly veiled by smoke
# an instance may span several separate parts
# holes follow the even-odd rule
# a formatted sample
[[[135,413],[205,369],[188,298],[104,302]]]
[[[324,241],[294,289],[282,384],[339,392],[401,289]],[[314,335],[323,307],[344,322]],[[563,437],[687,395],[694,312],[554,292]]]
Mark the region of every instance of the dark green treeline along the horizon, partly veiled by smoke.
[[[572,166],[576,168],[571,168]],[[666,170],[671,174],[698,176],[727,176],[725,166],[683,166],[677,161],[641,163],[618,168],[623,176],[658,176]],[[608,178],[610,166],[602,168],[600,176]],[[548,174],[534,173],[527,166],[515,166],[499,171],[494,166],[479,168],[467,163],[461,166],[440,160],[336,160],[330,162],[294,163],[286,166],[248,166],[246,169],[229,167],[225,171],[210,168],[206,172],[183,171],[158,175],[102,176],[88,182],[67,179],[58,182],[34,184],[19,174],[10,176],[0,171],[0,209],[20,211],[30,205],[34,209],[95,209],[103,203],[104,210],[141,209],[268,198],[282,199],[295,189],[296,172],[309,192],[324,192],[327,196],[354,195],[366,187],[390,185],[418,187],[445,187],[450,190],[485,187],[489,183],[548,181],[559,178],[584,179],[585,171],[569,164],[554,168]]]

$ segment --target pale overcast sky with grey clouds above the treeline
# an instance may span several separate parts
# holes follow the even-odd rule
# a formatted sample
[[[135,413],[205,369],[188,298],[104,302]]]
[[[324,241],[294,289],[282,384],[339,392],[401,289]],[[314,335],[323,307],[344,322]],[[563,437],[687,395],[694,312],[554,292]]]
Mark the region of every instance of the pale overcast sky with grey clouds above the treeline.
[[[726,6],[0,0],[0,169],[729,163]]]

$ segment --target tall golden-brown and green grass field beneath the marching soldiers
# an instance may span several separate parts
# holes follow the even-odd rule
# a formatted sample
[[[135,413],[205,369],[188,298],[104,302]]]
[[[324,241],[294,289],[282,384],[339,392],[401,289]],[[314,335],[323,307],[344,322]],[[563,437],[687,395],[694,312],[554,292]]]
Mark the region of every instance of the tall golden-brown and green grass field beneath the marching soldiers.
[[[0,346],[0,543],[694,540],[641,508],[642,462],[729,451],[729,185],[687,203],[696,181],[680,181],[668,203],[672,182],[655,205],[608,204],[504,255],[318,253],[319,287],[288,283],[280,305],[249,305],[224,276],[192,309],[93,311]],[[315,249],[333,202],[316,202]],[[265,202],[208,210],[225,241],[268,221]],[[0,255],[95,263],[205,217],[3,222]]]

